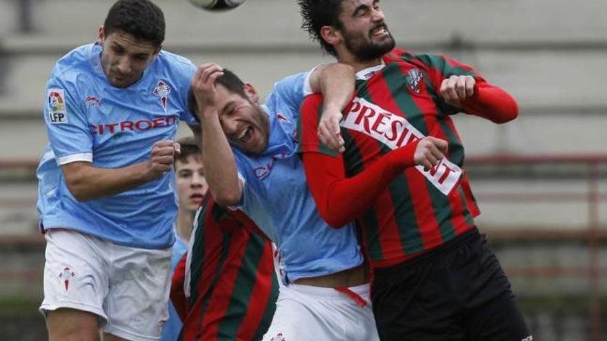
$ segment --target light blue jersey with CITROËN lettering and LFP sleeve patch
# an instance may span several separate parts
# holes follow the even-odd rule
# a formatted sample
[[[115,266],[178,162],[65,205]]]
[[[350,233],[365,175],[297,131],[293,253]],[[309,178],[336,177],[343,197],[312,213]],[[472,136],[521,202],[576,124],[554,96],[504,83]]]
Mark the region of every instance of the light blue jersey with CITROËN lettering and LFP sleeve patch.
[[[152,145],[175,138],[187,110],[195,66],[161,51],[137,83],[112,87],[101,68],[101,46],[84,45],[57,61],[46,85],[44,121],[50,145],[38,167],[43,229],[63,228],[119,245],[161,249],[175,241],[175,175],[168,172],[128,192],[78,202],[59,166],[88,161],[119,168],[148,161]]]

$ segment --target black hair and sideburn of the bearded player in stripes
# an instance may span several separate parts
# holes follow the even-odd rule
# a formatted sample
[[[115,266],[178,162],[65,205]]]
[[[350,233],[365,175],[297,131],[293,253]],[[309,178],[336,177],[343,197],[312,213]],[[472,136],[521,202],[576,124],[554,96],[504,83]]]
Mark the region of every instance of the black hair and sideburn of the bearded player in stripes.
[[[319,41],[321,48],[337,57],[337,51],[330,43],[322,39],[320,29],[323,26],[333,26],[340,30],[343,24],[339,20],[341,3],[344,0],[297,0],[299,12],[303,18],[301,28],[308,31],[310,39]]]

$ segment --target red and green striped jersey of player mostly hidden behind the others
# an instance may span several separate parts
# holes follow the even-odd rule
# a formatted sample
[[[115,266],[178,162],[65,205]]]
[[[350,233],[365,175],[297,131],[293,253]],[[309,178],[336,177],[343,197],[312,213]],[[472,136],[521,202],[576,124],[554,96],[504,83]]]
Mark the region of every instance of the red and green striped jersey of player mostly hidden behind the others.
[[[270,241],[256,233],[246,215],[220,207],[210,194],[201,207],[190,249],[188,315],[179,340],[261,340],[279,288]]]

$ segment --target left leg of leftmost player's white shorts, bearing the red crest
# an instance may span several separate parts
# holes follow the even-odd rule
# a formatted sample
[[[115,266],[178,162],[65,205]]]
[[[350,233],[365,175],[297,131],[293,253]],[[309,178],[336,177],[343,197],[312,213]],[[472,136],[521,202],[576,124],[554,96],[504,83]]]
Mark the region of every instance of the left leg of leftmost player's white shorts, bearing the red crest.
[[[108,273],[97,238],[76,231],[46,231],[44,299],[40,310],[61,308],[86,311],[107,320],[103,300],[108,293]]]

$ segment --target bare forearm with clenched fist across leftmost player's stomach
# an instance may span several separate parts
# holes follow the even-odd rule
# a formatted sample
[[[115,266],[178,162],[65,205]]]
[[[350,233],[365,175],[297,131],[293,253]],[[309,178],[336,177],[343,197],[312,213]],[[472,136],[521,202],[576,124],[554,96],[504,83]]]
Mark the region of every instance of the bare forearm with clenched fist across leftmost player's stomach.
[[[70,192],[79,201],[112,196],[135,189],[161,178],[171,170],[179,145],[173,141],[158,141],[152,147],[150,159],[121,168],[94,167],[90,162],[77,161],[61,165],[63,178]]]

